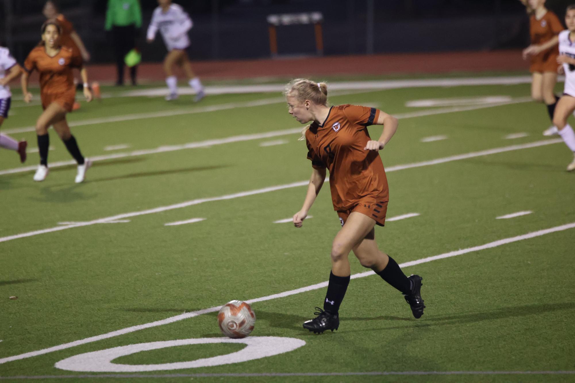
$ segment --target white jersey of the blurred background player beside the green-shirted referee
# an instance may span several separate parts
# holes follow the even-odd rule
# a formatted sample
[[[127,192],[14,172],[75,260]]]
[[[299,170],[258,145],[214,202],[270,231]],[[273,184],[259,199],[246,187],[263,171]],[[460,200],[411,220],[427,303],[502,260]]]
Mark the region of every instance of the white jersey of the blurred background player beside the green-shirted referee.
[[[154,40],[159,29],[168,51],[172,49],[186,49],[190,45],[187,31],[192,26],[193,23],[190,17],[181,6],[172,4],[166,12],[162,10],[162,7],[157,7],[154,10],[154,14],[152,14],[147,37],[150,40]]]

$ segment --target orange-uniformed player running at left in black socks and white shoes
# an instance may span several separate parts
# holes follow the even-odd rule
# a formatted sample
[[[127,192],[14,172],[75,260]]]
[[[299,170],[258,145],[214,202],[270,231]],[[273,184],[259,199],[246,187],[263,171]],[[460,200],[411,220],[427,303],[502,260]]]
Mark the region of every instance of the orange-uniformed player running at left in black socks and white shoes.
[[[82,156],[76,139],[70,133],[66,122],[66,113],[72,110],[76,87],[72,76],[72,68],[79,68],[84,83],[84,95],[88,102],[92,94],[87,86],[88,75],[82,65],[82,57],[74,54],[72,49],[62,47],[59,42],[60,25],[56,21],[47,21],[42,26],[42,42],[29,53],[24,61],[25,73],[22,75],[22,93],[25,102],[32,100],[28,92],[29,75],[34,69],[40,73],[40,98],[43,113],[36,121],[36,134],[38,136],[38,149],[40,152],[40,166],[34,174],[34,181],[43,181],[48,175],[48,127],[54,130],[78,163],[76,183],[82,182],[86,177],[86,169],[91,162]]]

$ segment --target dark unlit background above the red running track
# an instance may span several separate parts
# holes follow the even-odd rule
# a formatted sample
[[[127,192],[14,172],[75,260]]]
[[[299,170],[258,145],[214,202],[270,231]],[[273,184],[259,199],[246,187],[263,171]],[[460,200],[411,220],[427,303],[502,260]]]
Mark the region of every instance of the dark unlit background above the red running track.
[[[18,60],[40,40],[40,0],[0,0],[0,43]],[[547,0],[561,20],[575,0]],[[92,61],[111,63],[111,36],[104,31],[107,0],[60,0]],[[391,52],[481,51],[528,45],[528,17],[519,0],[180,0],[194,27],[189,54],[195,60],[270,57],[266,16],[323,13],[324,55]],[[160,61],[162,38],[145,43],[156,0],[140,0],[143,28],[138,46],[144,61]],[[373,10],[373,11],[370,11]],[[280,56],[315,55],[313,25],[278,27]]]

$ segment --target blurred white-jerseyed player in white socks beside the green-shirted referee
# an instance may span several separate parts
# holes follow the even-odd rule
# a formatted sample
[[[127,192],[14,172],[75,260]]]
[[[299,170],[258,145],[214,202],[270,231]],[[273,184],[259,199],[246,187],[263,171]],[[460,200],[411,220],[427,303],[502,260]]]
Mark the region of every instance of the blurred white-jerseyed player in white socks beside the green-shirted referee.
[[[170,93],[166,96],[166,100],[178,98],[178,79],[172,70],[174,65],[178,65],[186,73],[188,84],[196,92],[194,101],[198,102],[205,96],[204,86],[191,69],[186,53],[187,47],[190,46],[187,32],[193,26],[193,22],[186,11],[181,6],[172,3],[171,0],[158,0],[158,4],[148,27],[147,40],[149,43],[153,42],[159,30],[168,50],[164,59],[164,72],[166,72],[166,84]]]

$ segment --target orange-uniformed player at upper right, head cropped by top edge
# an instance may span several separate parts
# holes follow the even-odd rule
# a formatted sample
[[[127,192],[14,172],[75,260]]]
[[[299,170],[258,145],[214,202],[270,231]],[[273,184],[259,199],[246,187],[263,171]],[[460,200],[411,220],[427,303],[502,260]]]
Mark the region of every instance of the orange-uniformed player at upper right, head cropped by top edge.
[[[557,55],[559,50],[559,32],[563,25],[557,15],[545,7],[545,0],[520,0],[530,14],[529,29],[531,45],[523,49],[523,59],[531,57],[529,71],[532,73],[531,97],[536,102],[547,105],[547,113],[553,121],[553,113],[559,98],[555,96],[557,83]],[[543,131],[545,136],[558,134],[557,127],[551,126]]]

